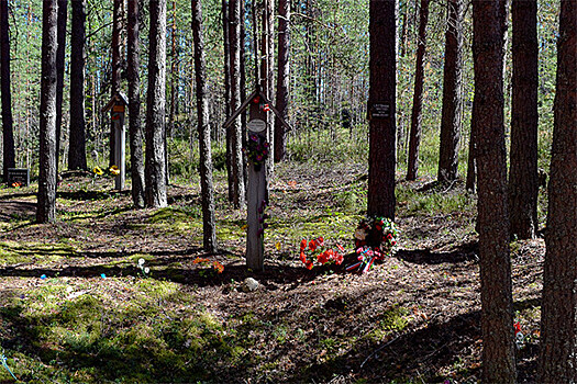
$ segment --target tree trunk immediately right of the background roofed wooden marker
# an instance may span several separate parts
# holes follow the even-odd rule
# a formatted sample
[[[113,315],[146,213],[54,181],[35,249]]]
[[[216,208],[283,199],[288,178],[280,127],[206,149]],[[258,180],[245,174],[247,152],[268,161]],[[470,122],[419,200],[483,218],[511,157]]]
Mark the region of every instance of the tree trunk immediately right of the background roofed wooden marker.
[[[144,207],[144,154],[141,116],[141,52],[140,4],[129,0],[127,26],[127,77],[129,77],[129,139],[132,178],[132,201],[137,208]]]

